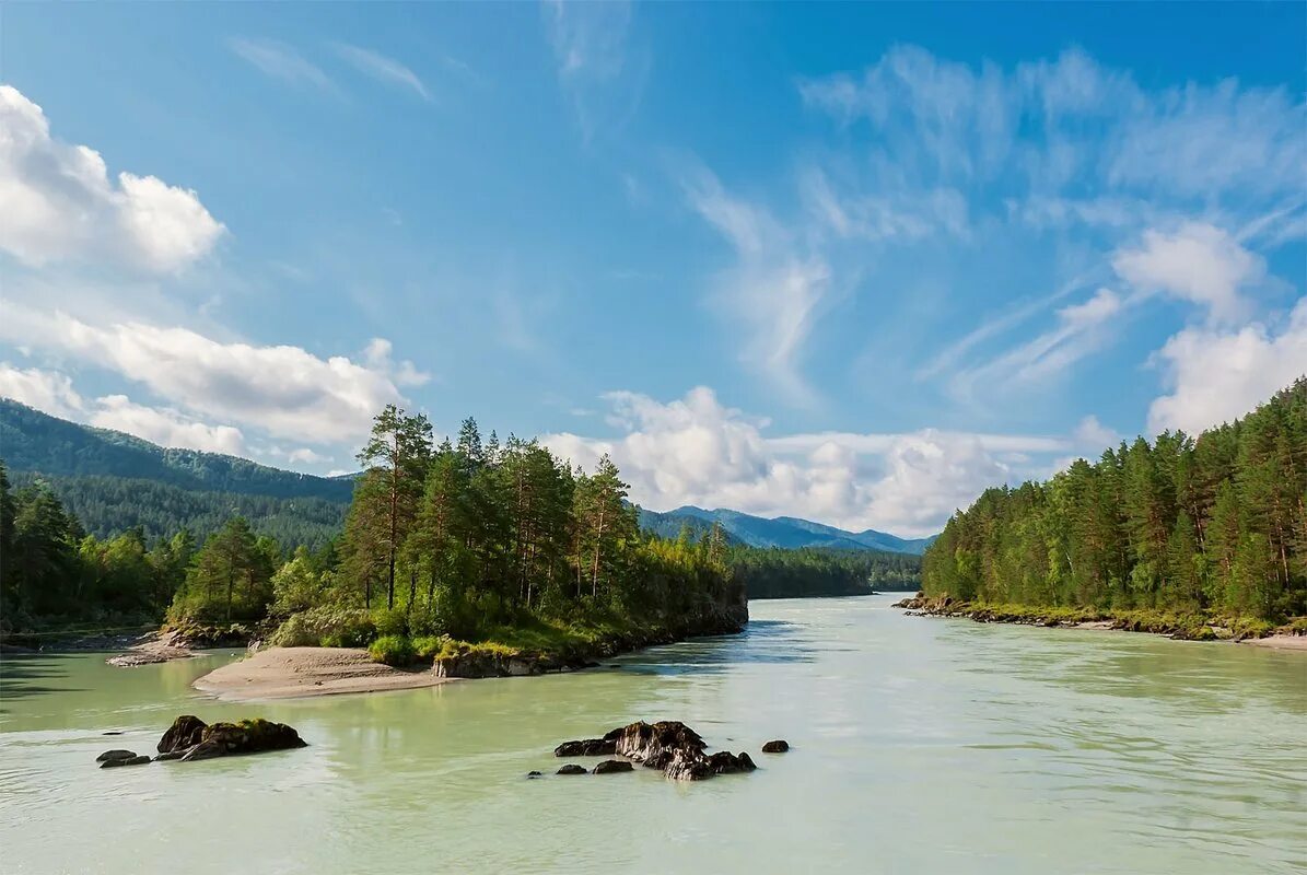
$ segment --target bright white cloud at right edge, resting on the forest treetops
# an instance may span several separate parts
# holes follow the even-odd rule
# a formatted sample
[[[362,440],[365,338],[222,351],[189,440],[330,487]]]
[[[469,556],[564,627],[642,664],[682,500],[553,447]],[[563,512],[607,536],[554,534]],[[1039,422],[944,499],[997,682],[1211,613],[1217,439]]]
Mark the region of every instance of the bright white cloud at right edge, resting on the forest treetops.
[[[1197,434],[1230,422],[1307,374],[1307,298],[1277,331],[1185,328],[1158,353],[1170,394],[1149,407],[1149,432]]]

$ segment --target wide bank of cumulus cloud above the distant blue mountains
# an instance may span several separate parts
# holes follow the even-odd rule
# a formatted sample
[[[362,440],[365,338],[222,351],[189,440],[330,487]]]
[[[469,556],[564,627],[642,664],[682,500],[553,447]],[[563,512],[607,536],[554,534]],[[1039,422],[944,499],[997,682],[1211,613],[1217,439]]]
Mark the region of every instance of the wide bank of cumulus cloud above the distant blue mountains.
[[[702,386],[669,403],[635,392],[606,400],[618,437],[563,433],[542,442],[587,468],[608,453],[644,506],[732,507],[908,536],[938,531],[984,488],[1043,472],[1044,459],[1077,446],[1073,438],[936,429],[769,437],[767,420],[723,405]]]

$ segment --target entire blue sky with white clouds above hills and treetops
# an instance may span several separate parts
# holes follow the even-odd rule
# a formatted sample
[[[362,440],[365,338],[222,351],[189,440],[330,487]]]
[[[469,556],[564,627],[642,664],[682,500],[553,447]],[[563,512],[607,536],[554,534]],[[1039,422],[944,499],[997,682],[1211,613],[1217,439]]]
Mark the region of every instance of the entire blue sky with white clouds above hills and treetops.
[[[0,395],[927,535],[1307,373],[1304,71],[1300,3],[4,3]]]

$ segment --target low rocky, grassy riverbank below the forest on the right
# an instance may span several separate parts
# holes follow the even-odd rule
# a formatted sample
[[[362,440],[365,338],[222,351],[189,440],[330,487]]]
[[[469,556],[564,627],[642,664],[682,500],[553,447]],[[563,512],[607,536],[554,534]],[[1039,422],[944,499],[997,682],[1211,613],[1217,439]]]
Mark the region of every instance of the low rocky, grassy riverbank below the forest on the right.
[[[1283,626],[1276,626],[1264,620],[1217,620],[1200,613],[985,604],[961,602],[949,595],[932,598],[921,592],[895,602],[893,607],[904,608],[910,616],[967,617],[976,623],[1046,628],[1146,632],[1178,641],[1234,641],[1307,653],[1307,634],[1303,632],[1307,624],[1302,617]]]

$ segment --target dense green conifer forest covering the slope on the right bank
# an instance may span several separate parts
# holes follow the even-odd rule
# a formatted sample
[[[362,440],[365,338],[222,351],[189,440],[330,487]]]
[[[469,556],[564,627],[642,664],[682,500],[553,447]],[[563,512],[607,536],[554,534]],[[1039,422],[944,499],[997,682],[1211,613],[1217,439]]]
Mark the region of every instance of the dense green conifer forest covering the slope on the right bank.
[[[988,489],[923,560],[928,595],[1280,621],[1307,613],[1307,378],[1197,438],[1167,432]]]

